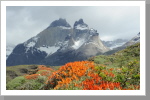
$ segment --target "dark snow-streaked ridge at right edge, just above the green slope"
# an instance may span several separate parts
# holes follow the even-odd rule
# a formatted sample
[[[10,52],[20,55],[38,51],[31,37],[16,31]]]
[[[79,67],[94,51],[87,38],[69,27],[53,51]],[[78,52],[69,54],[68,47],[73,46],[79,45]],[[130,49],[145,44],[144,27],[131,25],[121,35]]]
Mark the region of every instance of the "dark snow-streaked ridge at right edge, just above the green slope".
[[[117,51],[123,50],[131,45],[136,44],[136,43],[140,43],[140,32],[135,37],[133,37],[131,40],[129,40],[125,44],[123,44],[122,46],[113,48],[112,50],[105,52],[104,55],[111,55]]]

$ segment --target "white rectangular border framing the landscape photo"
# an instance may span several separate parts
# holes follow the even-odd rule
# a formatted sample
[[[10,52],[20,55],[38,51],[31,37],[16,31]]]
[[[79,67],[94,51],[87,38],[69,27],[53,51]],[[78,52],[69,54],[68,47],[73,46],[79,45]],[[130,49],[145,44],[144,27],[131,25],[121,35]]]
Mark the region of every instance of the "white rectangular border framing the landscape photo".
[[[140,90],[6,90],[6,6],[140,6]],[[1,1],[1,95],[145,95],[145,1]]]

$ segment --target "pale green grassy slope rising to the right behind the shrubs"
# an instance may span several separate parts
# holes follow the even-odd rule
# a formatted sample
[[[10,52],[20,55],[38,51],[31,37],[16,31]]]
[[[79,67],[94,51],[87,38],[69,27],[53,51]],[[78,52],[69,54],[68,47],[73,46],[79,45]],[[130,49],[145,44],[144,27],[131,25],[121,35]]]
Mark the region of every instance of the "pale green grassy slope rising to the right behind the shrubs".
[[[108,67],[122,67],[133,60],[140,60],[140,43],[127,47],[113,55],[99,55],[89,58],[96,64],[104,64]]]

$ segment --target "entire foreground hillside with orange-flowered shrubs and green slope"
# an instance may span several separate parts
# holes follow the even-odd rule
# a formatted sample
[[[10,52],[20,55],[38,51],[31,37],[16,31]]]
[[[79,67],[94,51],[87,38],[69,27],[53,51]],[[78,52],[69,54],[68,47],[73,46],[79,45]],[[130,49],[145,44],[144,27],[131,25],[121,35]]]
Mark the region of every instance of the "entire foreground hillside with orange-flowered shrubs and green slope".
[[[26,65],[23,68],[31,69],[31,66],[33,65],[30,67]],[[34,66],[36,68],[34,67],[32,73],[21,73],[8,80],[7,90],[140,89],[140,43],[113,55],[99,55],[91,57],[88,61],[69,62],[57,68]],[[14,70],[17,73],[20,68],[8,67],[7,71]]]

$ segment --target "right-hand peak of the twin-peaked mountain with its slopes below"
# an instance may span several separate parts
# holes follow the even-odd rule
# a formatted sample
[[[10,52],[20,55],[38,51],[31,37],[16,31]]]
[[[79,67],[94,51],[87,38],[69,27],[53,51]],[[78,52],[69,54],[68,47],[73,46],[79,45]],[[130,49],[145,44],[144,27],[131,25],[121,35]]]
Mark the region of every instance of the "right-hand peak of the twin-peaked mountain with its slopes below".
[[[80,19],[75,22],[73,35],[66,38],[62,48],[48,56],[40,64],[63,65],[67,62],[86,60],[108,50],[99,39],[97,31],[89,29],[83,19]]]

